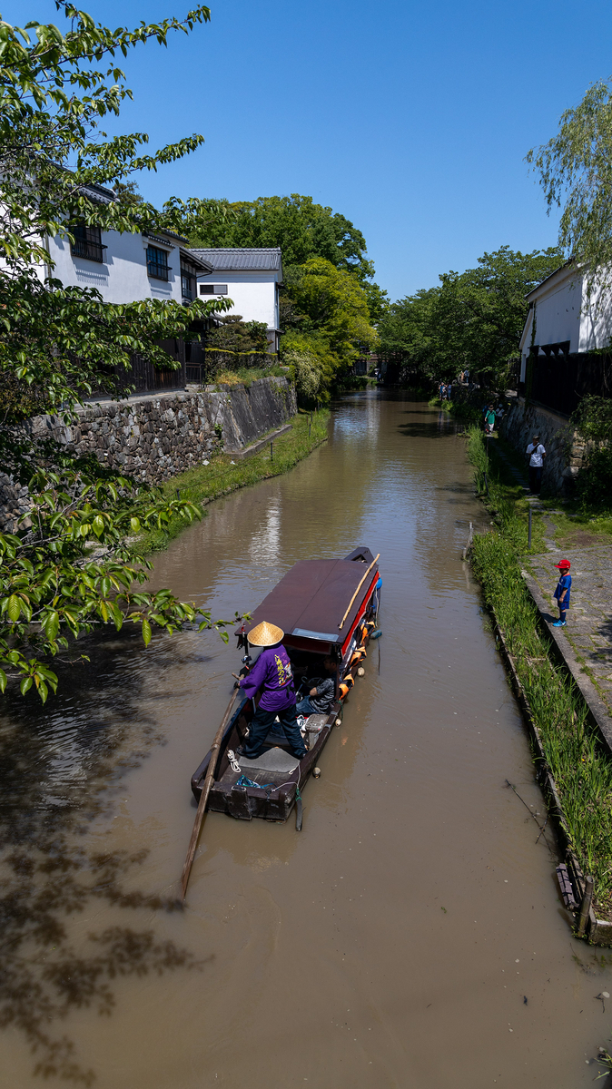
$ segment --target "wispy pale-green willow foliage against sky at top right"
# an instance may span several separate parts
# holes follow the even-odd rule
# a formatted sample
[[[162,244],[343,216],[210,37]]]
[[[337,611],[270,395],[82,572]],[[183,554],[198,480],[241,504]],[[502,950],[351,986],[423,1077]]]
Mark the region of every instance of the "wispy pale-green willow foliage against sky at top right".
[[[612,89],[590,86],[561,115],[559,132],[531,148],[527,162],[540,175],[549,212],[561,208],[559,244],[588,268],[589,282],[610,282],[612,268]]]

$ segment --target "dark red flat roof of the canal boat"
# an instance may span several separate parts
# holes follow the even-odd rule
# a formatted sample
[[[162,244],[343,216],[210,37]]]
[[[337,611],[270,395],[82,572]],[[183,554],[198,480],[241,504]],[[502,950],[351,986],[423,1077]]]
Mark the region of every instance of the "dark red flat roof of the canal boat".
[[[340,629],[348,602],[374,560],[369,549],[363,548],[351,556],[296,563],[257,607],[249,628],[267,620],[282,627],[285,635],[343,643],[378,573],[375,564]]]

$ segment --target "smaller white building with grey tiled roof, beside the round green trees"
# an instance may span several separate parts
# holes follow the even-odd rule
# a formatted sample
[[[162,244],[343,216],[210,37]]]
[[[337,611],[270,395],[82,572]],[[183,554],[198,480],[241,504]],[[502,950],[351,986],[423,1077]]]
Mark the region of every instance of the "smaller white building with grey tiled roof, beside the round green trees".
[[[264,321],[273,352],[279,350],[279,284],[282,282],[280,248],[271,249],[191,249],[194,258],[211,266],[199,272],[198,298],[229,295],[229,314],[241,314],[244,321]]]

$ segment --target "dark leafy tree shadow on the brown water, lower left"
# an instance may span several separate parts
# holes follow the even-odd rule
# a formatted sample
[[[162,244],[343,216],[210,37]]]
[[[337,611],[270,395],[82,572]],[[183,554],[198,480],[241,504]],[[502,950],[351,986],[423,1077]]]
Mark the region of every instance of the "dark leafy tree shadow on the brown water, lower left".
[[[134,888],[147,852],[87,846],[91,822],[112,812],[109,786],[163,742],[138,706],[143,668],[133,669],[133,637],[102,637],[89,653],[87,669],[66,675],[64,668],[52,706],[10,698],[0,719],[0,1027],[24,1033],[35,1074],[86,1086],[94,1070],[54,1025],[76,1010],[110,1015],[119,977],[204,967],[138,927],[144,910],[150,921],[151,911],[182,909],[175,898]],[[100,675],[106,686],[96,684]],[[75,941],[71,917],[96,901],[118,909],[117,921],[113,915],[113,925]]]

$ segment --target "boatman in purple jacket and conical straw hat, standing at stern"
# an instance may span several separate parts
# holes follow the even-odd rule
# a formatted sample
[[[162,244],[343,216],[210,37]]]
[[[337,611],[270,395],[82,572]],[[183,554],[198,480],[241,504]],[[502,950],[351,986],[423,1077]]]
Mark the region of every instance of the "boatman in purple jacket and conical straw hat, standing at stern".
[[[248,633],[252,647],[264,647],[250,673],[236,684],[236,687],[244,688],[249,699],[253,699],[258,688],[261,689],[261,698],[253,715],[248,737],[242,746],[242,752],[238,749],[237,754],[248,760],[255,760],[262,752],[277,714],[292,755],[296,760],[302,760],[306,756],[306,746],[295,715],[293,671],[289,654],[281,643],[283,636],[282,628],[276,624],[268,624],[267,621],[262,621]]]

